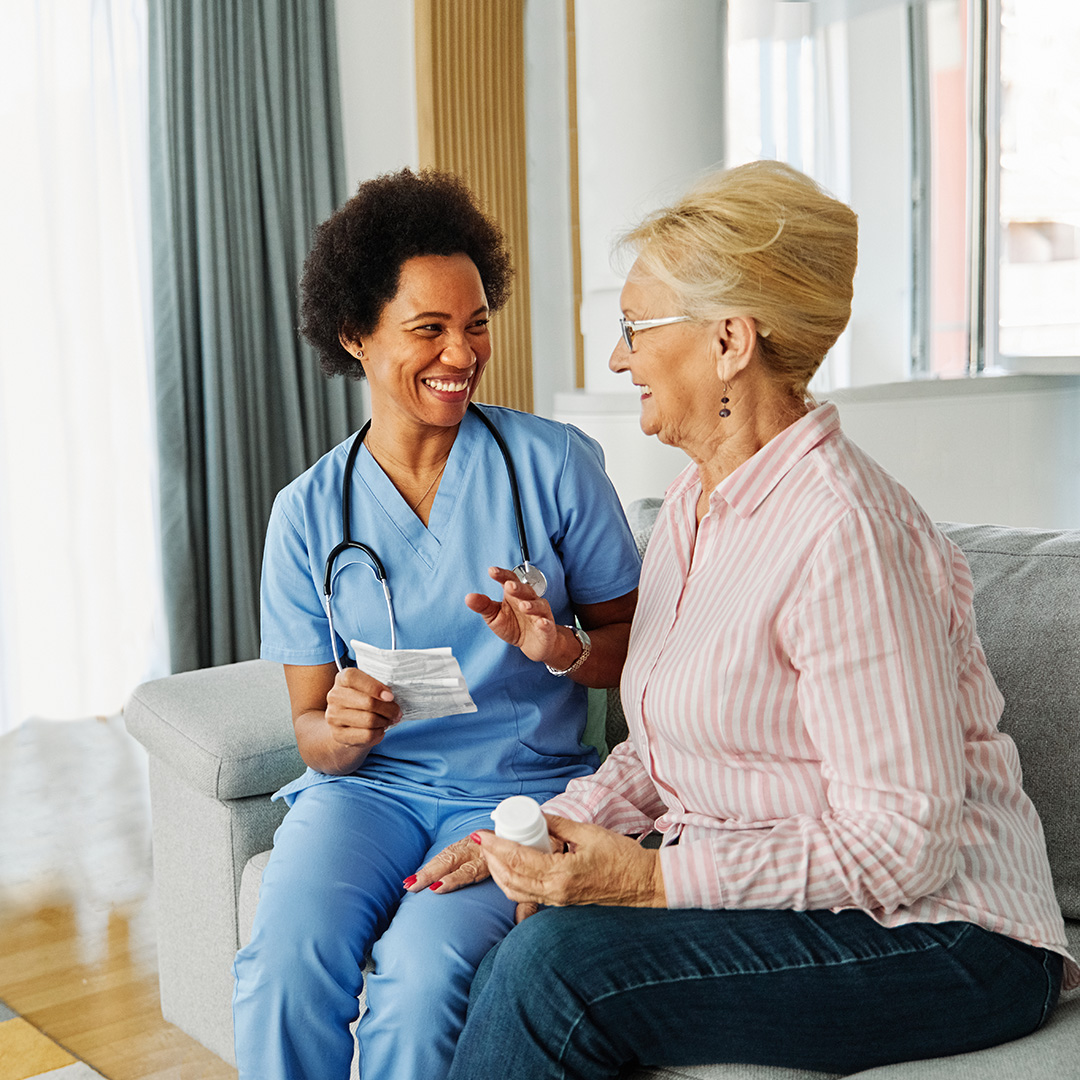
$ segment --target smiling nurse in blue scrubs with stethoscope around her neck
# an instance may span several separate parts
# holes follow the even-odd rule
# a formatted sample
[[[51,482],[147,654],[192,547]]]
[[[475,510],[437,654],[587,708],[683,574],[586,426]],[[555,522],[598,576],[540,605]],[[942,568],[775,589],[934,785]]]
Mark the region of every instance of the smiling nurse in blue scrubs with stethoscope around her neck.
[[[582,742],[586,687],[617,686],[639,562],[599,447],[575,428],[484,406],[513,462],[542,598],[522,559],[508,470],[470,402],[507,300],[498,228],[455,177],[408,170],[361,185],[315,234],[301,329],[328,374],[366,378],[372,422],[278,496],[262,571],[265,659],[284,664],[302,777],[262,877],[233,999],[242,1080],[446,1075],[469,985],[514,904],[471,881],[507,796],[539,801],[597,766]],[[391,646],[373,563],[386,570],[399,648],[449,646],[474,713],[401,720],[350,640]],[[582,630],[584,633],[582,633]],[[338,664],[342,664],[339,670]],[[463,841],[463,842],[458,842]],[[449,848],[441,879],[418,869]],[[426,875],[426,880],[430,875]]]

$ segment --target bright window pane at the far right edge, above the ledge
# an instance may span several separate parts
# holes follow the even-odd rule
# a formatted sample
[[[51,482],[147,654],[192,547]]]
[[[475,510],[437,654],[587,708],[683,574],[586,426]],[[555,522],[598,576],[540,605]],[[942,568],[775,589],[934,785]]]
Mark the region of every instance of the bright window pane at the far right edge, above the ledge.
[[[1001,0],[1004,355],[1080,354],[1080,4]]]

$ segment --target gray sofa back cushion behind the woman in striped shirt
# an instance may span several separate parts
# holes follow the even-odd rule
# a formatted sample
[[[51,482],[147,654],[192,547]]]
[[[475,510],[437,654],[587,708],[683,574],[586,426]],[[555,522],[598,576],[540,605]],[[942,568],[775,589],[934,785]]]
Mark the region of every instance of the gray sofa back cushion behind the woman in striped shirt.
[[[626,511],[644,553],[660,499]],[[1042,819],[1062,910],[1080,918],[1080,531],[940,523],[968,558],[975,624],[1005,699],[1001,730],[1016,742],[1024,789]],[[626,737],[617,691],[607,739]]]

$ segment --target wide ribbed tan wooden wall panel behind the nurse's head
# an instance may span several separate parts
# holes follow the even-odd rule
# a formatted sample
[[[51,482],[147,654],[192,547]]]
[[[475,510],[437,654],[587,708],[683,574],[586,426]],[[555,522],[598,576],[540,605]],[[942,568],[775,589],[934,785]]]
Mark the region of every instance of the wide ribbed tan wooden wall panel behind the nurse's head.
[[[457,173],[502,227],[514,289],[478,400],[531,411],[525,0],[414,0],[421,167]]]

